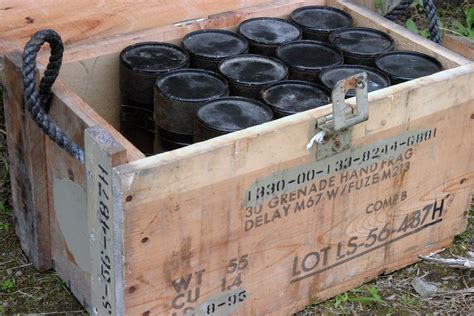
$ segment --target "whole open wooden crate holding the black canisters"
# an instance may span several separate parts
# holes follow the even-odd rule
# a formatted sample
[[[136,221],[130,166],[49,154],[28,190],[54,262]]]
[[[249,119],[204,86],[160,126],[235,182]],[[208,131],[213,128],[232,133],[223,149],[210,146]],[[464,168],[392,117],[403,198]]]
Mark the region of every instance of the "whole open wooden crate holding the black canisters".
[[[20,55],[4,58],[17,233],[35,266],[52,266],[91,313],[287,314],[447,247],[465,229],[474,188],[469,60],[342,0],[177,3],[159,2],[158,27],[152,9],[117,4],[90,39],[64,29],[72,40],[50,116],[85,146],[86,166],[25,113]],[[445,70],[370,93],[352,148],[322,160],[319,145],[306,145],[330,105],[148,158],[117,132],[121,49],[309,4],[342,8]],[[120,29],[114,19],[128,11],[133,23]],[[167,24],[182,17],[197,20]]]

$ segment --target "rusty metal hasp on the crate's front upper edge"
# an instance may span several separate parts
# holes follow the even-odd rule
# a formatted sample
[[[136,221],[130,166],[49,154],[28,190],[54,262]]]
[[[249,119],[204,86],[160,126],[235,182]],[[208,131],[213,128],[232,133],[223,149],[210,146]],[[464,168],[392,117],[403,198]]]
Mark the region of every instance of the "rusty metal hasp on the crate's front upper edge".
[[[356,104],[345,102],[346,92],[355,89]],[[352,145],[351,127],[369,118],[367,73],[362,72],[337,82],[332,90],[332,113],[316,122],[319,133],[316,159],[321,160],[347,150]]]

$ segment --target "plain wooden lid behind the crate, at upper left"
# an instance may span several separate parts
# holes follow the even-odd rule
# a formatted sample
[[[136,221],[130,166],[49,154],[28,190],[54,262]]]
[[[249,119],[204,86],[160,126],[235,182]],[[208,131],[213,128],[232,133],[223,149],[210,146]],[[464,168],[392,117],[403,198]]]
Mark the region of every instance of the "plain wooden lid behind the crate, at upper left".
[[[130,33],[271,0],[13,0],[0,5],[0,54],[22,49],[33,33],[58,31],[66,45]]]

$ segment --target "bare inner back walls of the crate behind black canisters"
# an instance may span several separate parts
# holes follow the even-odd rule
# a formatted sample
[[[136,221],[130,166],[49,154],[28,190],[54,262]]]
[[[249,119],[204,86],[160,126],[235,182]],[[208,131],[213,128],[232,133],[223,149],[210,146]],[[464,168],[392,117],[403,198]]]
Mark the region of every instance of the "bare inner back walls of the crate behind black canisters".
[[[314,4],[323,4],[322,1],[313,1]],[[341,5],[337,1],[329,1],[331,5],[342,8],[347,13],[349,13],[353,18],[354,26],[364,26],[377,28],[382,30],[392,36],[395,42],[396,50],[414,50],[420,51],[422,53],[432,55],[437,58],[443,65],[443,69],[449,69],[456,67],[458,64],[446,58],[445,56],[440,56],[435,52],[426,49],[423,44],[416,43],[415,41],[409,40],[405,37],[401,37],[397,33],[392,33],[391,29],[379,25],[377,21],[372,21],[366,17],[360,15],[358,12],[354,12],[348,9],[343,4]],[[311,3],[313,4],[313,3]],[[297,3],[296,6],[304,6],[307,3]],[[270,6],[268,9],[268,14],[265,10],[259,8],[258,14],[251,14],[251,16],[245,16],[245,14],[239,15],[238,18],[235,15],[223,15],[219,17],[219,25],[222,25],[220,28],[225,28],[231,31],[235,31],[238,24],[250,17],[258,16],[274,16],[287,19],[291,11],[295,9],[295,5],[280,6],[278,13],[275,14],[275,10],[271,10]],[[238,12],[238,10],[236,11]],[[249,12],[248,10],[246,11]],[[374,14],[375,15],[375,14]],[[244,17],[245,16],[245,17]],[[201,22],[197,22],[194,25],[185,25],[185,26],[172,26],[176,28],[184,28],[186,32],[180,32],[181,34],[186,34],[193,30],[201,28],[216,28],[213,27],[213,23],[210,23],[211,27],[203,26]],[[207,24],[209,25],[209,24]],[[163,36],[160,34],[162,32],[169,31],[169,28],[157,28],[156,32],[153,33],[153,30],[148,30],[147,35],[144,40],[136,40],[137,37],[127,36],[128,40],[123,40],[119,43],[118,46],[125,48],[128,45],[131,45],[136,42],[142,41],[163,41]],[[406,31],[408,32],[408,31]],[[178,32],[179,33],[179,32]],[[164,35],[166,36],[166,35]],[[166,42],[180,45],[183,36],[171,37]],[[423,42],[424,39],[420,40]],[[420,49],[422,47],[422,49]],[[120,120],[120,90],[119,90],[119,54],[121,48],[113,50],[112,52],[108,51],[101,54],[100,49],[97,49],[96,57],[86,58],[73,62],[65,62],[61,68],[60,78],[86,103],[89,104],[99,115],[101,115],[106,121],[108,121],[114,128],[119,130],[119,120]],[[383,90],[388,90],[390,87]],[[382,90],[382,91],[383,91]]]

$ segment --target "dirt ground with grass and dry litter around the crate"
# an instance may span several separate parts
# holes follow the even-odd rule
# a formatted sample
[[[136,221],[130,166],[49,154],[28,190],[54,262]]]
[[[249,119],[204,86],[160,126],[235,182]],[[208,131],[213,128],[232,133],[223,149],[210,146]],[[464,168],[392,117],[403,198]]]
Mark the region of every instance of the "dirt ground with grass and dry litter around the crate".
[[[438,1],[439,2],[439,1]],[[444,1],[440,16],[446,23],[462,20],[457,8],[470,4]],[[412,8],[411,17],[420,29],[422,15]],[[450,22],[451,21],[451,22]],[[402,21],[402,23],[404,23]],[[0,98],[1,99],[1,98]],[[6,131],[3,104],[0,101],[0,314],[44,313],[86,314],[54,271],[37,272],[20,249],[15,235],[8,175]],[[454,245],[442,252],[444,257],[467,256],[474,251],[474,207],[469,213],[467,230],[457,236]],[[313,314],[462,314],[474,315],[474,272],[419,262],[397,272],[319,304],[310,304],[298,315]],[[421,298],[411,282],[421,277],[438,288],[429,298]]]

